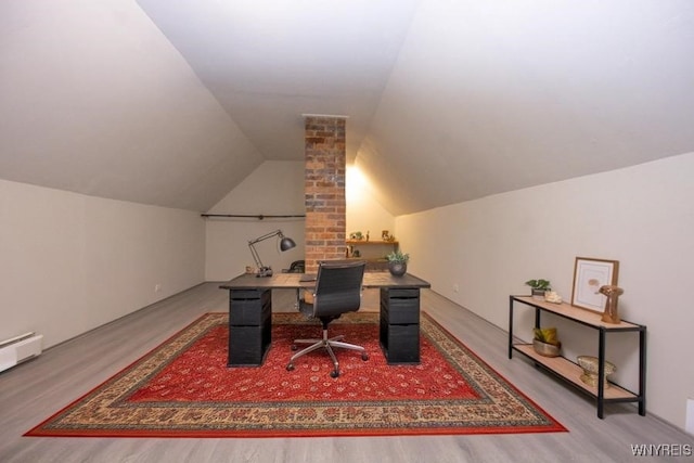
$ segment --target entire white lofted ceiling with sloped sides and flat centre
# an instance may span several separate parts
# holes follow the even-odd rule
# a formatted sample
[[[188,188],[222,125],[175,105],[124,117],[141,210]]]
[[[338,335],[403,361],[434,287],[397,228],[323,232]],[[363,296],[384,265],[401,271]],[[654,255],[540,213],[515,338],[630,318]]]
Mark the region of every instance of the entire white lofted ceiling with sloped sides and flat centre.
[[[0,178],[205,211],[304,158],[394,215],[694,151],[690,0],[3,0]]]

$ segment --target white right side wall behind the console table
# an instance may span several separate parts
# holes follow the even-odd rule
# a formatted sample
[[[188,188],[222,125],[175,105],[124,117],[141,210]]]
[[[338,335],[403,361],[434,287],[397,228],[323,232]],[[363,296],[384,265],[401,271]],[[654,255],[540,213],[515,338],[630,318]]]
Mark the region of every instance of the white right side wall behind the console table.
[[[683,427],[694,394],[693,175],[690,153],[401,216],[396,230],[412,273],[504,330],[507,297],[527,294],[526,280],[549,279],[570,301],[577,256],[619,260],[620,314],[647,325],[647,410]],[[553,324],[569,356],[596,352],[594,332]],[[614,377],[632,390],[637,342],[607,339]]]

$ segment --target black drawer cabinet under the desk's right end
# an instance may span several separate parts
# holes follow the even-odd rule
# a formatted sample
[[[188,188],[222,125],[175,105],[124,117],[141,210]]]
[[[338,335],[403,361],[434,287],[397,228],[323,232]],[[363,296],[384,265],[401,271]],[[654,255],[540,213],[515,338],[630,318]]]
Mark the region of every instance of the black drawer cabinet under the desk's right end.
[[[389,364],[420,363],[419,288],[381,288],[380,331]]]

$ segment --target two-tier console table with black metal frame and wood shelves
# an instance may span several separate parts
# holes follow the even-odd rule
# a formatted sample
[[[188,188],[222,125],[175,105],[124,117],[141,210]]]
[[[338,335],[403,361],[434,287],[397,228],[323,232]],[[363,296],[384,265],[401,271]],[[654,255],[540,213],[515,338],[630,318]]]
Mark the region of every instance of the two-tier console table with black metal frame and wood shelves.
[[[553,313],[566,320],[579,323],[583,326],[597,331],[597,386],[589,386],[580,380],[582,369],[564,357],[543,357],[535,351],[532,344],[520,343],[513,337],[513,311],[514,305],[520,304],[535,309],[535,327],[540,327],[540,316],[542,312]],[[535,361],[550,372],[576,386],[579,390],[589,394],[597,400],[597,417],[604,416],[604,404],[607,402],[638,402],[639,414],[646,414],[646,327],[641,324],[621,321],[620,323],[605,323],[602,313],[581,309],[563,304],[545,303],[530,296],[509,296],[509,358],[513,357],[516,350]],[[605,340],[608,333],[639,333],[639,391],[632,393],[621,386],[609,383],[611,387],[605,388]]]

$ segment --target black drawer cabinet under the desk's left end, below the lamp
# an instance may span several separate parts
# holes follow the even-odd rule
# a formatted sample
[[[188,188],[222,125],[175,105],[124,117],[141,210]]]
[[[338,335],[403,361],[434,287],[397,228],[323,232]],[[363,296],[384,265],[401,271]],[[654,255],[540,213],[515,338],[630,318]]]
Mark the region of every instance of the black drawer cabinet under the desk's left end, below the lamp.
[[[229,295],[229,366],[259,366],[271,342],[270,290],[232,290]]]

